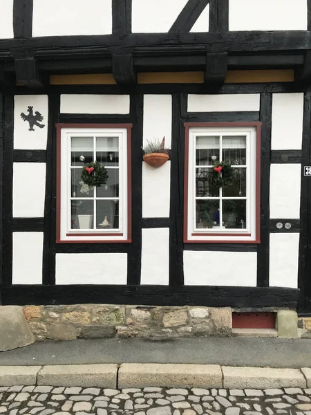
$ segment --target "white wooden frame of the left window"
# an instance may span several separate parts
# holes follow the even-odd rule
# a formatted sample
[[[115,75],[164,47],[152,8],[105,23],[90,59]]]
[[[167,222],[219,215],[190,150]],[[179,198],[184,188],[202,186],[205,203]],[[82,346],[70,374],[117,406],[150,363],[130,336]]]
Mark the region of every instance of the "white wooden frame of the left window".
[[[119,200],[118,229],[71,229],[71,138],[72,137],[118,137],[119,142],[119,196],[111,199]],[[129,210],[128,210],[128,129],[126,128],[61,128],[60,132],[60,212],[59,242],[86,241],[129,241]],[[96,156],[95,146],[94,160]],[[113,167],[115,168],[115,167]],[[109,170],[109,167],[107,167]],[[86,196],[83,199],[91,199]],[[95,203],[96,206],[96,203]],[[96,211],[93,213],[96,218]]]

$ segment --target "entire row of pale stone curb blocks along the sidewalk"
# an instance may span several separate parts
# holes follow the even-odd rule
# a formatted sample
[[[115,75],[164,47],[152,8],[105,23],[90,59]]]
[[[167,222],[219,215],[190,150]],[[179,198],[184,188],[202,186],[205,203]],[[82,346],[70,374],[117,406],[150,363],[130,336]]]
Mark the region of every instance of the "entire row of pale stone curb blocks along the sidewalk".
[[[311,368],[273,369],[187,364],[0,366],[0,387],[194,387],[270,389],[311,387]],[[93,390],[93,389],[88,389]],[[94,389],[95,390],[95,389]],[[181,389],[180,389],[181,390]],[[202,389],[195,389],[202,390]],[[311,389],[310,389],[311,390]],[[254,396],[257,394],[254,394]]]

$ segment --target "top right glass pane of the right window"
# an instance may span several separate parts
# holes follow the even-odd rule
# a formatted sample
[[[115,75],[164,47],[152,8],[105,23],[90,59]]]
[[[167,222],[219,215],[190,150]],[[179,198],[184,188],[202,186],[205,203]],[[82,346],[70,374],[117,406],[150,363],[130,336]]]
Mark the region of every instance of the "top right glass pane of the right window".
[[[223,136],[223,161],[230,165],[246,165],[245,136]]]

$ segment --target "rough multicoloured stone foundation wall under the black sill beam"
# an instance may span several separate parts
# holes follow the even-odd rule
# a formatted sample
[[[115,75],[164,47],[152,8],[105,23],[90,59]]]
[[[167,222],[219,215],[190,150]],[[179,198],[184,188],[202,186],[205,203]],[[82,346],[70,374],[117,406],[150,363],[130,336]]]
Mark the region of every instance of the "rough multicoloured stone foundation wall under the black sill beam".
[[[232,309],[225,307],[77,304],[26,306],[23,313],[36,340],[229,336],[232,333]]]

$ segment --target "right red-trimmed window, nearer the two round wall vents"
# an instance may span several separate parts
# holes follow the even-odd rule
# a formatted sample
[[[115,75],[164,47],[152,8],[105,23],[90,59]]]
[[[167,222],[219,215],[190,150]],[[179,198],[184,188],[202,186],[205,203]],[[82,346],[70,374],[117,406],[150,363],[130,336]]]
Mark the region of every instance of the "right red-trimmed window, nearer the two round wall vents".
[[[261,123],[185,127],[185,242],[258,243]],[[232,184],[211,183],[216,163],[232,167]]]

